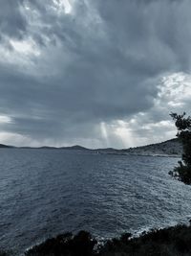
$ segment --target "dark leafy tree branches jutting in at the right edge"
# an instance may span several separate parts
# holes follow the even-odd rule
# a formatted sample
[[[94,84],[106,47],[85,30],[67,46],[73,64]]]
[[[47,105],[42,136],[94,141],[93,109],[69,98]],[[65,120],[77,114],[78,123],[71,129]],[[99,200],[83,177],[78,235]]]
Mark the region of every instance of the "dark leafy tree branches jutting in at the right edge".
[[[179,166],[169,174],[179,178],[185,184],[191,184],[191,117],[186,118],[185,115],[185,113],[182,115],[170,114],[178,128],[177,136],[182,143],[183,153]]]

